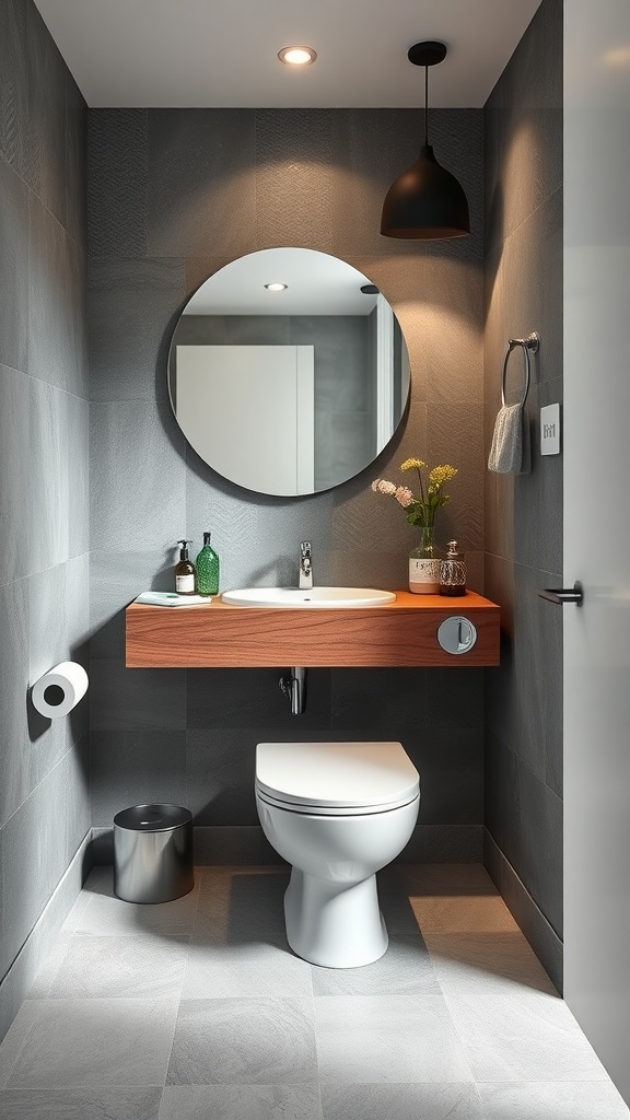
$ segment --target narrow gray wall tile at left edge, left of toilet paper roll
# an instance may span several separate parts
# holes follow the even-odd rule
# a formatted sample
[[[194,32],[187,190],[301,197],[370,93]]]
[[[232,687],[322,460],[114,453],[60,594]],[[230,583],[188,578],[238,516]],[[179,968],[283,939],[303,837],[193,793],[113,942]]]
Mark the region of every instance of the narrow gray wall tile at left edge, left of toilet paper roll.
[[[0,587],[0,825],[21,804],[28,777],[28,600],[24,580]]]

